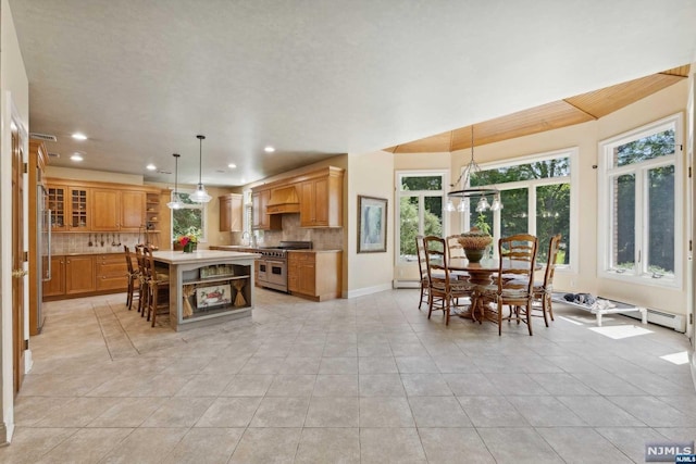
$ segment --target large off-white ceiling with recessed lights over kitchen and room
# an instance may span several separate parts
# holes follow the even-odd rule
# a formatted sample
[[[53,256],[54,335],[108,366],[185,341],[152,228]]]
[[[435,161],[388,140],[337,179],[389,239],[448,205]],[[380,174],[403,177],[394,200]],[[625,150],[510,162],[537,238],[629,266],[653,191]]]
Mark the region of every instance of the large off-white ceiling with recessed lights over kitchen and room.
[[[51,165],[148,181],[174,181],[176,152],[197,183],[197,134],[202,181],[238,186],[437,134],[464,148],[458,128],[696,61],[693,0],[9,3]]]

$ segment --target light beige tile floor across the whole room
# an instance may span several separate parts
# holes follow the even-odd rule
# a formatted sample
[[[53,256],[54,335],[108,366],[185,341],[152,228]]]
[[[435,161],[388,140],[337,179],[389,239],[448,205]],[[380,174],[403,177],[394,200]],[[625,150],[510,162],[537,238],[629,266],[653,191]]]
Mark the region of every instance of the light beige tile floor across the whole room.
[[[125,296],[46,304],[3,463],[623,463],[696,436],[683,334],[612,339],[440,314],[415,290],[323,303],[257,292],[252,317],[175,333]],[[605,325],[639,324],[620,315]]]

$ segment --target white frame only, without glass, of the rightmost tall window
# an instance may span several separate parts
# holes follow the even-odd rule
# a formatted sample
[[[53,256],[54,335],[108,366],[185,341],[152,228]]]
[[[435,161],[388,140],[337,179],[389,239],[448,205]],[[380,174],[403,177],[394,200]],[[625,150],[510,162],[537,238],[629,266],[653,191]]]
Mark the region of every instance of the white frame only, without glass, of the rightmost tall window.
[[[613,150],[618,146],[647,137],[652,134],[674,129],[674,154],[659,156],[641,163],[613,167]],[[598,143],[599,178],[598,178],[598,226],[597,226],[597,274],[599,277],[622,280],[638,285],[648,285],[663,288],[682,288],[683,285],[683,263],[678,256],[684,252],[684,167],[683,167],[683,134],[684,123],[682,113],[676,113],[659,121],[637,127],[633,130],[617,135]],[[648,249],[647,235],[644,229],[644,220],[647,216],[647,186],[644,183],[644,173],[650,168],[674,164],[674,276],[662,276],[656,278],[647,271],[643,269],[643,263],[636,260],[633,272],[617,272],[611,267],[611,221],[612,220],[612,179],[623,174],[634,174],[636,181],[636,239],[635,253]],[[641,253],[645,254],[644,252]]]

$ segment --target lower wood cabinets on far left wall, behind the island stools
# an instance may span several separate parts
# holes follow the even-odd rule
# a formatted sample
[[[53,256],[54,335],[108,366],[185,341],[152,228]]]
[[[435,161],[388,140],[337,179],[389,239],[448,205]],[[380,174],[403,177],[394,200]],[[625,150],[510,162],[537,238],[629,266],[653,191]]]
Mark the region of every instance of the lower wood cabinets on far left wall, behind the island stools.
[[[44,300],[126,291],[124,253],[51,256],[51,279],[44,283]]]

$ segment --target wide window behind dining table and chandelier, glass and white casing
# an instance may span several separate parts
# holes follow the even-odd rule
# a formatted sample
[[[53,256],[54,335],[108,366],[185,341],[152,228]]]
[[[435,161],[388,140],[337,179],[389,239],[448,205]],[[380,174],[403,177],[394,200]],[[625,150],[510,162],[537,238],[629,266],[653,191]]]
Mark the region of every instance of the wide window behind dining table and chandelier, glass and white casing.
[[[482,171],[472,176],[472,186],[497,188],[504,204],[502,210],[483,213],[492,225],[494,243],[513,234],[535,235],[539,243],[537,261],[545,264],[549,240],[560,233],[557,268],[576,271],[576,148],[483,164]],[[470,214],[462,218],[463,230],[469,230],[480,214],[475,211],[476,199],[469,203]]]

